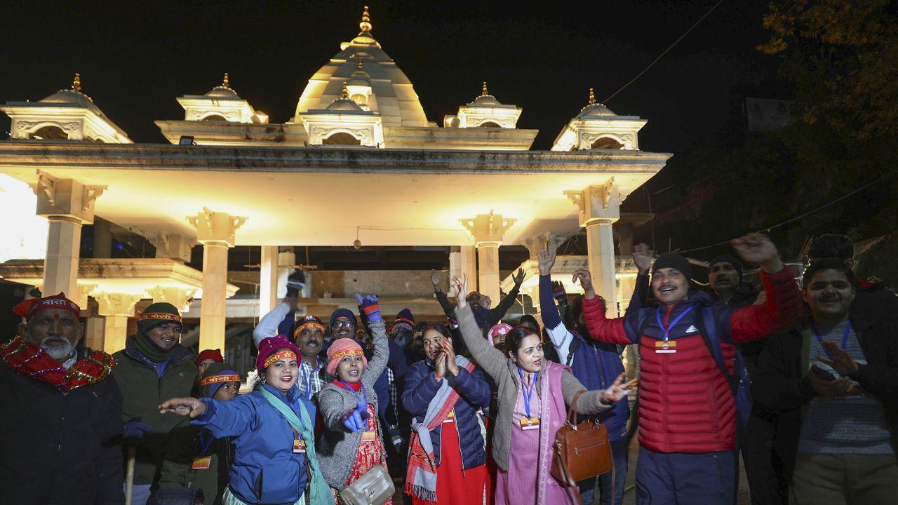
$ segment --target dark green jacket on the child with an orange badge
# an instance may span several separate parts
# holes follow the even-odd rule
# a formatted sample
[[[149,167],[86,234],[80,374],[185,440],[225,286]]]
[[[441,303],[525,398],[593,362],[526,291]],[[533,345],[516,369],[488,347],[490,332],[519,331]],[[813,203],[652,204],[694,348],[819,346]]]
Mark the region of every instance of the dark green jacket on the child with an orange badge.
[[[159,487],[189,487],[203,490],[208,505],[220,505],[231,468],[231,439],[212,439],[185,419],[172,430],[165,453]],[[192,468],[197,457],[210,456],[205,470]]]

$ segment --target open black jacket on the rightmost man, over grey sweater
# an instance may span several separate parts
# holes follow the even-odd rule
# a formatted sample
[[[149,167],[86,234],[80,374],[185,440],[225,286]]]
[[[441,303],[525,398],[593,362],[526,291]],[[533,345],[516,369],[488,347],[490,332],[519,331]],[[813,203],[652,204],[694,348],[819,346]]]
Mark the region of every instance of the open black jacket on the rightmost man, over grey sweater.
[[[851,326],[858,334],[860,348],[867,359],[851,374],[868,393],[883,403],[885,416],[892,427],[892,444],[898,430],[898,324],[882,319],[867,322],[859,315],[850,316]],[[802,422],[802,407],[816,395],[807,380],[810,338],[803,331],[807,323],[767,339],[758,357],[758,369],[752,377],[755,404],[781,412],[777,438],[786,442],[788,463],[794,461],[798,434]],[[807,342],[807,343],[806,343]]]

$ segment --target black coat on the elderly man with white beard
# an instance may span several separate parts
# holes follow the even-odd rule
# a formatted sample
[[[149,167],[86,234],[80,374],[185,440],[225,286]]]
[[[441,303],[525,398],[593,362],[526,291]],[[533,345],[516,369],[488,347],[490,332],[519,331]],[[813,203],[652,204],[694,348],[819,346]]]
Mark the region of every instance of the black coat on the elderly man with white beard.
[[[125,502],[115,379],[65,394],[0,361],[0,391],[0,504]]]

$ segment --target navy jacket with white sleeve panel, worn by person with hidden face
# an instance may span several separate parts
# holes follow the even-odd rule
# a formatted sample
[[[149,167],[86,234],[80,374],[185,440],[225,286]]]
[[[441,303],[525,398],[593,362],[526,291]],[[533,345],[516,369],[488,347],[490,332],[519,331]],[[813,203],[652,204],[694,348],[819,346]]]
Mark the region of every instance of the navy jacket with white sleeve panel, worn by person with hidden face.
[[[606,389],[614,383],[614,379],[624,372],[618,346],[612,343],[584,339],[578,332],[572,332],[561,322],[555,298],[552,297],[551,276],[540,276],[540,309],[542,323],[549,332],[552,343],[560,351],[568,350],[564,363],[574,372],[585,388]],[[618,402],[596,418],[605,423],[609,440],[627,438],[627,420],[629,419],[629,403]]]

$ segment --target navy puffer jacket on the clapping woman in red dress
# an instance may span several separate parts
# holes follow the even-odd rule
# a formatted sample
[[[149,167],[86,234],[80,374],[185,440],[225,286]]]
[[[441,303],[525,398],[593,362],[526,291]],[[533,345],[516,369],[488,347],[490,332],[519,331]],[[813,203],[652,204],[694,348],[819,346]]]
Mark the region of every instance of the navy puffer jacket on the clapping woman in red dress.
[[[487,452],[484,449],[483,436],[480,434],[477,411],[480,410],[480,407],[489,407],[489,401],[492,398],[487,380],[480,368],[474,368],[474,371],[469,373],[468,370],[461,367],[459,367],[458,377],[447,373],[443,380],[449,381],[449,385],[452,385],[458,392],[459,398],[455,403],[455,422],[441,424],[430,431],[436,465],[440,465],[440,441],[444,428],[458,430],[462,470],[483,465],[487,462]],[[415,416],[415,421],[424,421],[427,407],[441,384],[441,382],[436,382],[433,362],[429,358],[422,359],[409,368],[409,373],[405,376],[402,403],[405,409]]]

